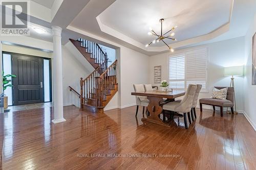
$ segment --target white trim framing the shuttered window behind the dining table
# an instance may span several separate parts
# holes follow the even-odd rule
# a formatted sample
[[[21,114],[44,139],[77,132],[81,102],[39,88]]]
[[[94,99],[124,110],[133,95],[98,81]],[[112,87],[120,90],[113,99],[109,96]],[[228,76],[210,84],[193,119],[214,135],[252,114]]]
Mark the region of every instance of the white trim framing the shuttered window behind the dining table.
[[[169,58],[170,57],[178,57],[178,56],[182,56],[184,55],[185,56],[185,70],[186,70],[186,53],[189,53],[189,52],[193,52],[193,51],[197,51],[197,50],[202,50],[202,49],[206,49],[207,51],[207,54],[206,54],[206,83],[205,83],[205,89],[204,90],[201,90],[200,93],[209,93],[209,80],[208,80],[208,64],[209,64],[209,48],[208,47],[200,47],[200,48],[193,48],[191,50],[188,50],[188,51],[185,51],[185,52],[182,52],[182,53],[177,53],[177,54],[172,54],[172,55],[168,55],[167,56],[167,66],[168,66],[168,81],[169,81]],[[185,71],[185,89],[186,90],[186,71]]]

